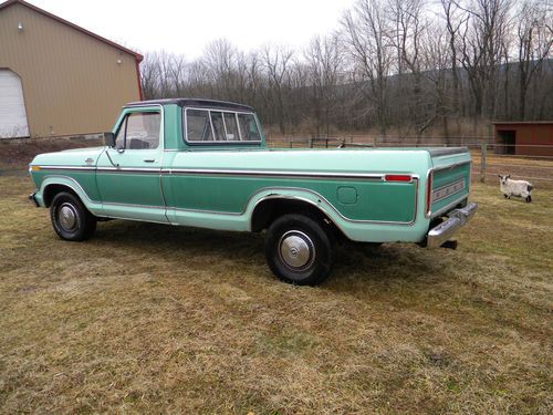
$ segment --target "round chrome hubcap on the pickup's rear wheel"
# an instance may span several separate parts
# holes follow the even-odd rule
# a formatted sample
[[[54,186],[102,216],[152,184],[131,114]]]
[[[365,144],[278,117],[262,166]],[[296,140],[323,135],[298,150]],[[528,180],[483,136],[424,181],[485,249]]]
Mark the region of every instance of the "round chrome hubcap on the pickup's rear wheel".
[[[280,239],[279,256],[285,266],[294,270],[306,269],[315,260],[315,246],[305,234],[290,230]]]

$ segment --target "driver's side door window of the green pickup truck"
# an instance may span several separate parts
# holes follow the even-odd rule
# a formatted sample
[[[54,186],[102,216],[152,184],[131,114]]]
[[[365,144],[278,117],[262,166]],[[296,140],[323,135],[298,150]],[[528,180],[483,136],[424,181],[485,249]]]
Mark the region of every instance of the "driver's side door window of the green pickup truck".
[[[157,148],[160,126],[161,115],[159,113],[128,114],[117,132],[115,146],[128,149]]]

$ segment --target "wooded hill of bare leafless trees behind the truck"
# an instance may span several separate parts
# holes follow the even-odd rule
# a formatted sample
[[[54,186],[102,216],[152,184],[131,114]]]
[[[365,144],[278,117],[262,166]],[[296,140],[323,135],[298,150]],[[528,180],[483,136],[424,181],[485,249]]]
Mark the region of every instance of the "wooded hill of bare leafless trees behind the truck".
[[[553,118],[552,21],[545,0],[358,0],[303,50],[147,53],[142,82],[146,98],[247,103],[280,134],[476,134]]]

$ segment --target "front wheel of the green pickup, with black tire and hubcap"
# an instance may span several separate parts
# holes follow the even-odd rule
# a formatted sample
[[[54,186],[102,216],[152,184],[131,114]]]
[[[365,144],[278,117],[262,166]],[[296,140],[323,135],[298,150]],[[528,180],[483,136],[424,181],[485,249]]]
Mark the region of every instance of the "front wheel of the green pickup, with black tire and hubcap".
[[[55,195],[50,206],[50,219],[54,231],[65,240],[86,240],[96,230],[96,218],[79,197],[66,191]]]

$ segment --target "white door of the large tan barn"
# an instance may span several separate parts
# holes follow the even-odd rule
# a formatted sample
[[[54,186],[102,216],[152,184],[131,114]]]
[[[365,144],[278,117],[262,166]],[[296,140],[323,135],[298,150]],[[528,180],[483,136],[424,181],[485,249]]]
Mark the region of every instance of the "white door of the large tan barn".
[[[28,136],[21,79],[10,70],[0,69],[0,138]]]

